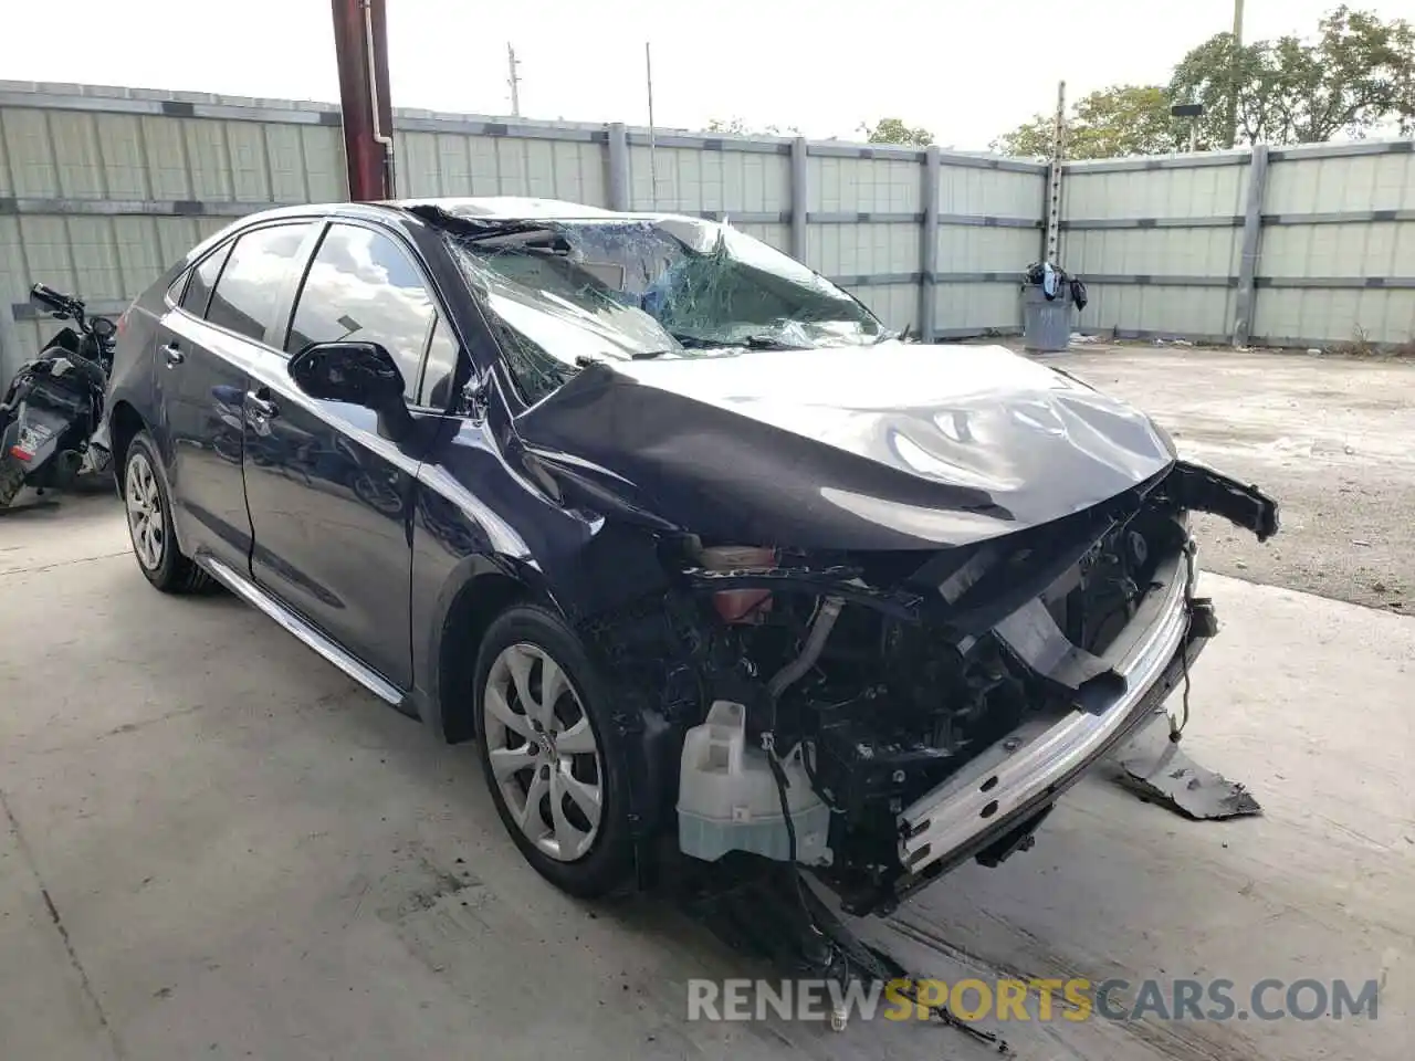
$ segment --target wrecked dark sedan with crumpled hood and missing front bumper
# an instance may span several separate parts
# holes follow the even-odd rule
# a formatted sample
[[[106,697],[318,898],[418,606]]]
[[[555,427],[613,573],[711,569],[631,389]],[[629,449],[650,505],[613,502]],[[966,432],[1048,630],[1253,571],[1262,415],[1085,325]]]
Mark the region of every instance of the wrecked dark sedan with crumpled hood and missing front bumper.
[[[1217,632],[1190,515],[1278,528],[1043,364],[545,199],[236,222],[123,315],[96,444],[153,586],[475,740],[579,895],[665,846],[860,914],[996,864]]]

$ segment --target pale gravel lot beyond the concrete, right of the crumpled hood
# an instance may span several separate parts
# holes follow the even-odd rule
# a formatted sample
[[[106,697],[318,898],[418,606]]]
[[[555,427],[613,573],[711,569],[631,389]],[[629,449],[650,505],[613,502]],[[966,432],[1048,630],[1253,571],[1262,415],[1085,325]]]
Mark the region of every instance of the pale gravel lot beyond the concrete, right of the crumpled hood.
[[[1047,361],[1278,499],[1282,530],[1266,545],[1199,522],[1207,570],[1415,613],[1415,364],[1105,344]]]

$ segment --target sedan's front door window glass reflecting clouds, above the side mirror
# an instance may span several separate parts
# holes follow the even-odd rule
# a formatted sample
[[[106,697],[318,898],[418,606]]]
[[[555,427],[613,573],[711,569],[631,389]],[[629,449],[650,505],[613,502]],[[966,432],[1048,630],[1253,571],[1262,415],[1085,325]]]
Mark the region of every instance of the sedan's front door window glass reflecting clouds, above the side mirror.
[[[422,273],[392,236],[358,225],[331,225],[304,277],[284,348],[311,342],[378,342],[403,372],[403,393],[417,402],[417,369],[433,321]]]

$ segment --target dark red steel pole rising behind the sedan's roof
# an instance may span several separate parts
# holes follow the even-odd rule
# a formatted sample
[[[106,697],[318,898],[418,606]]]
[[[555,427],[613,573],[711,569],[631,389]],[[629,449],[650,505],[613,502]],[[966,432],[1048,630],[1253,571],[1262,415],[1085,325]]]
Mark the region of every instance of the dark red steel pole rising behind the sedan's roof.
[[[350,198],[393,197],[393,113],[383,0],[331,0]]]

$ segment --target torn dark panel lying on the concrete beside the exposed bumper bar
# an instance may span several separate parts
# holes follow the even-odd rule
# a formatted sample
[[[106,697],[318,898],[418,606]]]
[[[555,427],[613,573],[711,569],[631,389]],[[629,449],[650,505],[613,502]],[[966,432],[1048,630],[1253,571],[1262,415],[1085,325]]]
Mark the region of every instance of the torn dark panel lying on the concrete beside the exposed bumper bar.
[[[1112,753],[1114,775],[1122,787],[1194,821],[1262,813],[1241,782],[1201,767],[1170,740],[1165,721],[1162,713]]]

